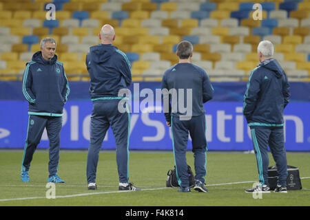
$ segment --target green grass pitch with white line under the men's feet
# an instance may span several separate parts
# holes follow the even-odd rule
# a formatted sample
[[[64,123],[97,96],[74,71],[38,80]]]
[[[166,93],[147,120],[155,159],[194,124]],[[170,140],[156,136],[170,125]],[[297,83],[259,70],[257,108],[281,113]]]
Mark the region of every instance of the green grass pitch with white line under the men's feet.
[[[36,151],[30,167],[30,182],[20,179],[23,151],[0,151],[0,206],[309,206],[310,153],[287,153],[289,165],[297,166],[302,190],[287,194],[263,194],[254,199],[246,188],[258,180],[254,154],[207,153],[206,183],[209,192],[177,192],[165,188],[167,170],[173,168],[172,151],[130,151],[130,181],[141,191],[118,191],[115,151],[101,151],[97,169],[97,190],[87,190],[87,151],[61,151],[55,199],[45,197],[48,181],[48,151]],[[270,165],[273,165],[271,155]],[[194,157],[187,153],[194,171]]]

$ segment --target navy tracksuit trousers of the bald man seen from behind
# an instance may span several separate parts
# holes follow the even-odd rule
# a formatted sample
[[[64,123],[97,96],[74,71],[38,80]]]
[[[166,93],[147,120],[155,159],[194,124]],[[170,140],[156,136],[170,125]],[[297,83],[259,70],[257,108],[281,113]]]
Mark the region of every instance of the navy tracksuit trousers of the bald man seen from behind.
[[[118,111],[119,100],[96,100],[93,102],[90,147],[87,155],[87,184],[96,183],[99,151],[107,129],[111,126],[116,142],[116,164],[120,183],[128,183],[130,113]]]

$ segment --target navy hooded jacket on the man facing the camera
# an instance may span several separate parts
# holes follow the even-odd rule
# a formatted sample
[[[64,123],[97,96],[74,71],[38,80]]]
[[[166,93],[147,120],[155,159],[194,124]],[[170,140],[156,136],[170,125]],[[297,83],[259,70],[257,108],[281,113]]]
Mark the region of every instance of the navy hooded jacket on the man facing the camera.
[[[28,100],[29,115],[62,116],[63,104],[70,94],[63,63],[57,56],[46,61],[41,51],[32,56],[23,72],[23,95]]]

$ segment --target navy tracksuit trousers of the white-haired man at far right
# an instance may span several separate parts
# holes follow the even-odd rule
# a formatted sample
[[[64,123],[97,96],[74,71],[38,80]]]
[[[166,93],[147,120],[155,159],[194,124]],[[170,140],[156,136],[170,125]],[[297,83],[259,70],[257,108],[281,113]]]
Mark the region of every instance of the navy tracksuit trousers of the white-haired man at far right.
[[[268,166],[269,146],[278,170],[278,185],[286,186],[287,155],[284,145],[283,127],[251,126],[251,137],[258,166],[258,177],[261,185],[269,185]]]

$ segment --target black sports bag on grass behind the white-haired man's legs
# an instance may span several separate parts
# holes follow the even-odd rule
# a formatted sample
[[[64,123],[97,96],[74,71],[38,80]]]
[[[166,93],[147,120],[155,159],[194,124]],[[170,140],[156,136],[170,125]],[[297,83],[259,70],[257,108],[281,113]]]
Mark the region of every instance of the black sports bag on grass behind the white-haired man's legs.
[[[299,169],[295,166],[287,165],[287,190],[301,190],[302,184],[299,176]],[[278,171],[276,165],[269,166],[268,168],[268,181],[271,190],[277,186]]]

